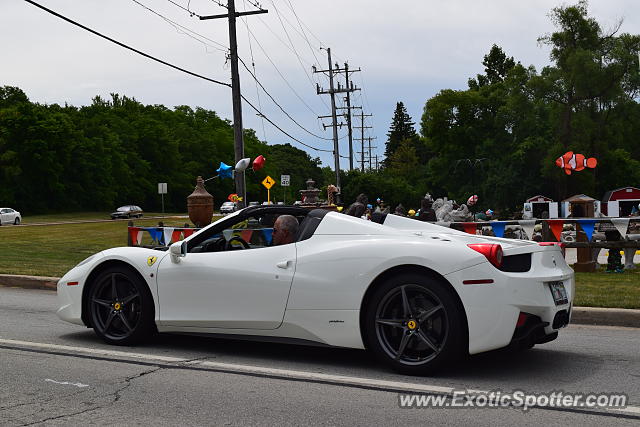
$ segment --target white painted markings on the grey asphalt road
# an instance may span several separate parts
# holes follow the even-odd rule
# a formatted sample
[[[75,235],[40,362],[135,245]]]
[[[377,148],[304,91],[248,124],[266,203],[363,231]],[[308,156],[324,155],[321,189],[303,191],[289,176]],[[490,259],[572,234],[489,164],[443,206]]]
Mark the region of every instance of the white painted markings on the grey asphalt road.
[[[397,391],[398,393],[418,392],[418,393],[452,394],[454,391],[459,390],[459,388],[443,387],[443,386],[430,385],[430,384],[417,384],[417,383],[408,383],[408,382],[400,382],[400,381],[377,380],[374,378],[332,375],[332,374],[323,374],[319,372],[309,372],[309,371],[295,371],[290,369],[277,369],[277,368],[268,368],[264,366],[242,365],[242,364],[236,364],[236,363],[208,362],[208,361],[190,360],[190,359],[180,358],[180,357],[169,357],[169,356],[160,356],[160,355],[144,354],[144,353],[129,353],[126,351],[103,350],[103,349],[87,348],[87,347],[72,347],[72,346],[59,345],[59,344],[47,344],[47,343],[39,343],[39,342],[32,342],[32,341],[19,341],[19,340],[9,340],[9,339],[0,338],[0,345],[3,345],[3,344],[25,347],[25,348],[65,351],[69,353],[80,353],[80,354],[111,356],[111,357],[124,357],[124,358],[130,358],[130,359],[133,358],[133,359],[140,359],[140,360],[161,361],[161,362],[169,362],[169,363],[187,363],[190,366],[202,366],[202,367],[214,368],[214,369],[223,370],[228,373],[237,372],[237,373],[258,374],[258,375],[272,375],[272,376],[277,376],[281,378],[291,378],[296,380],[323,381],[323,382],[328,382],[328,383],[333,383],[338,385],[344,384],[344,385],[356,385],[356,386],[381,388],[381,389],[392,389],[394,391]],[[53,380],[50,380],[50,381],[53,382]],[[468,393],[489,393],[489,391],[486,391],[486,390],[474,390],[474,389],[468,389],[467,392]],[[611,408],[609,409],[609,411],[637,415],[637,414],[640,414],[640,407],[627,406],[626,408]]]

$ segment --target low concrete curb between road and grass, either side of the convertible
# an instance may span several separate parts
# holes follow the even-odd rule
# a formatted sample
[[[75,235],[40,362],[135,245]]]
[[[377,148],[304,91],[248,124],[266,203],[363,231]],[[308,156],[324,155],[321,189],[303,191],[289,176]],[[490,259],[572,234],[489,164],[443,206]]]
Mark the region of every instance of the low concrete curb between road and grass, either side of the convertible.
[[[59,277],[0,274],[0,286],[26,289],[57,289]],[[640,310],[625,308],[573,307],[571,323],[578,325],[640,328]]]

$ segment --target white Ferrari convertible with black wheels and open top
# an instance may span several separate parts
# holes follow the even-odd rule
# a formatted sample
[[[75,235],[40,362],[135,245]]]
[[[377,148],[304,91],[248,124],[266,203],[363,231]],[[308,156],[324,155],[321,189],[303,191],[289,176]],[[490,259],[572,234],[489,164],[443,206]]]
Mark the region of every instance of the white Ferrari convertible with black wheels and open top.
[[[283,214],[300,226],[274,246]],[[112,344],[156,332],[267,337],[366,348],[409,374],[530,348],[569,323],[574,273],[559,246],[375,219],[256,206],[168,250],[105,250],[60,279],[58,315]]]

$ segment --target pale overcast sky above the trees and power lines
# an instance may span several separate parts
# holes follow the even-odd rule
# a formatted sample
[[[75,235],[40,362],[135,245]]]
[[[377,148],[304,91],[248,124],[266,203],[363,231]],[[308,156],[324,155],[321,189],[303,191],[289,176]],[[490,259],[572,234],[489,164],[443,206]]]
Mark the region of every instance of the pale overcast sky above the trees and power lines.
[[[215,0],[36,1],[150,55],[230,82],[226,19],[201,21],[179,7],[197,15],[224,13]],[[226,4],[226,0],[220,2]],[[425,102],[445,88],[465,89],[467,79],[483,71],[482,58],[494,43],[517,61],[540,70],[549,63],[549,49],[536,39],[553,31],[549,12],[575,4],[558,0],[259,3],[269,13],[238,21],[239,56],[249,66],[253,56],[256,75],[267,91],[304,128],[323,138],[331,138],[331,129],[325,131],[317,116],[330,114],[330,102],[328,95],[316,95],[315,84],[326,89],[329,83],[326,76],[311,71],[314,64],[327,67],[327,53],[320,47],[331,48],[333,62],[342,66],[347,61],[351,69],[361,68],[353,80],[362,91],[353,94],[352,105],[363,105],[365,113],[373,114],[365,123],[373,127],[365,137],[377,138],[374,151],[379,155],[384,153],[396,102],[404,102],[419,131]],[[236,7],[255,9],[249,0],[236,0]],[[623,32],[640,33],[638,0],[592,0],[589,10],[605,29],[623,19]],[[0,0],[0,46],[0,85],[17,86],[34,102],[81,106],[96,95],[109,98],[110,93],[119,93],[144,104],[203,107],[232,119],[230,89],[152,62],[24,0]],[[287,118],[241,71],[243,94],[278,126],[308,145],[332,149],[331,141],[310,135]],[[342,96],[338,98],[343,105]],[[260,139],[271,144],[290,142],[333,167],[331,153],[306,148],[267,122],[263,127],[246,104],[243,116],[244,127],[254,129]],[[339,136],[340,154],[347,155],[346,128]],[[360,136],[359,130],[355,136]],[[359,142],[354,144],[359,151]],[[348,164],[340,159],[341,168]]]

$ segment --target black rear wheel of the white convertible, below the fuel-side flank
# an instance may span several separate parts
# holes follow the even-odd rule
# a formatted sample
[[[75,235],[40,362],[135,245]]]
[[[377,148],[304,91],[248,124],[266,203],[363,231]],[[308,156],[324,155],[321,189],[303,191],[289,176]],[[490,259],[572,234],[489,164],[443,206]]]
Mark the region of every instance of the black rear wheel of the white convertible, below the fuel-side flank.
[[[439,280],[401,274],[379,286],[365,307],[367,348],[410,375],[435,372],[462,354],[463,313]]]

